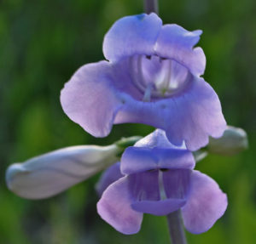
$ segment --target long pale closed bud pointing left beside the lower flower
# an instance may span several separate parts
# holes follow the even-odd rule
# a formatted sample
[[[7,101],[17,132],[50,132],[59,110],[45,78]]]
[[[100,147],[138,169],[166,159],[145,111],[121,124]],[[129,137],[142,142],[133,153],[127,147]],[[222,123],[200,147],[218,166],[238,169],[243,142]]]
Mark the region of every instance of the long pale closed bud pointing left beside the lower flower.
[[[117,145],[79,145],[15,163],[7,169],[9,190],[28,199],[54,196],[118,161]]]

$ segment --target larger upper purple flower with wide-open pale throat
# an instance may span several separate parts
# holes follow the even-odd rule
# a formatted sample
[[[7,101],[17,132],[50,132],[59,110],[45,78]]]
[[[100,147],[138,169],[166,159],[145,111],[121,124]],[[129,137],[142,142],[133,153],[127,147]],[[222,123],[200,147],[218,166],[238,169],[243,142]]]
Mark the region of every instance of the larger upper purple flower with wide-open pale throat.
[[[113,124],[138,122],[166,131],[188,150],[220,137],[226,123],[218,95],[200,76],[206,58],[193,48],[201,31],[164,25],[156,14],[116,21],[103,42],[105,61],[84,65],[61,91],[61,105],[96,137]]]

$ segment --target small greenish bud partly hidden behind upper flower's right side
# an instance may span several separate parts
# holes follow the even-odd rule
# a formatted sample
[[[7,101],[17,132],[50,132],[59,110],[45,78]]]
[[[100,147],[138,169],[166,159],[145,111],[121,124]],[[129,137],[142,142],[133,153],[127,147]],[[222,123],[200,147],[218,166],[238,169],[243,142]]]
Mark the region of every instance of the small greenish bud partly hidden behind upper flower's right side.
[[[228,126],[221,138],[210,138],[208,151],[224,156],[232,156],[248,147],[247,133],[241,128]]]

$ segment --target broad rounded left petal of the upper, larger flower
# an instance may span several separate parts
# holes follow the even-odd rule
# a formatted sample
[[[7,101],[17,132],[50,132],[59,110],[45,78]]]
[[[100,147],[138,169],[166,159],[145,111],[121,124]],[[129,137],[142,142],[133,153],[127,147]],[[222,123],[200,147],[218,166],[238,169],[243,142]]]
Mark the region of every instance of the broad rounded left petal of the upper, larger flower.
[[[84,65],[61,90],[61,105],[73,122],[95,137],[107,136],[121,103],[111,86],[107,61]]]

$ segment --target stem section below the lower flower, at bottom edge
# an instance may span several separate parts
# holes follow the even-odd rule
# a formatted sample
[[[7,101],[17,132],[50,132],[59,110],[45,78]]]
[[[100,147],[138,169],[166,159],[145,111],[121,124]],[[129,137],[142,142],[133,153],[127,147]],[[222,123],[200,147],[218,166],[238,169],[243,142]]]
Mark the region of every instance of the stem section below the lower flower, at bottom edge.
[[[187,244],[180,210],[169,213],[166,217],[172,244]]]

